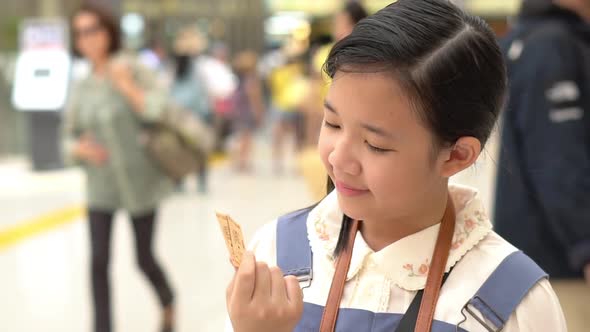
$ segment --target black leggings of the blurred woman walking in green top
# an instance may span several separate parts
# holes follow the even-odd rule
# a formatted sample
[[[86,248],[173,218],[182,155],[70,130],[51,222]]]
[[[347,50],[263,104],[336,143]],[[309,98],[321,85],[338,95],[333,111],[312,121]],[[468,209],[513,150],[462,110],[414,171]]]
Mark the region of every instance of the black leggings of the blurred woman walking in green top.
[[[96,332],[111,331],[111,297],[109,286],[109,261],[111,251],[111,230],[113,212],[89,211],[90,242],[92,245],[92,295],[94,300],[94,329]],[[154,258],[152,239],[154,235],[155,212],[132,217],[135,233],[137,263],[154,287],[160,304],[172,304],[172,290]]]

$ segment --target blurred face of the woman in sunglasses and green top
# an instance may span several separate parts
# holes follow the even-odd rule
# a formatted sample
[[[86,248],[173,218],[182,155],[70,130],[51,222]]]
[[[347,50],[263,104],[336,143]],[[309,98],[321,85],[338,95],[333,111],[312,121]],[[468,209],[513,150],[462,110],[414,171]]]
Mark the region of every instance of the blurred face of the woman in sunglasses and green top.
[[[93,13],[81,12],[74,17],[73,26],[76,49],[80,54],[97,62],[108,56],[109,34]]]

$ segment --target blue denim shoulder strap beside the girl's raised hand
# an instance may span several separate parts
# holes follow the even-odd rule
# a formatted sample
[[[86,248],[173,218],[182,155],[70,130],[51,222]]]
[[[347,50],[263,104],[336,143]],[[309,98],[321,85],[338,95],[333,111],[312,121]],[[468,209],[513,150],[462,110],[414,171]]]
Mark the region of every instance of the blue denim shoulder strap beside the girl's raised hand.
[[[312,253],[307,238],[307,216],[311,208],[282,216],[277,222],[277,265],[284,275],[311,282]]]

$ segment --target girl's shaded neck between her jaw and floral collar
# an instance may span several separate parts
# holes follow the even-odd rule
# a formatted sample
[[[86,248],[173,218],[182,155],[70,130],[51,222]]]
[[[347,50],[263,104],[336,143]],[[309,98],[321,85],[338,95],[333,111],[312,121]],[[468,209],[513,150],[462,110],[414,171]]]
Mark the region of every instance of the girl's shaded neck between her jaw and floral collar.
[[[440,223],[449,199],[447,187],[443,189],[421,201],[411,215],[387,220],[363,220],[360,231],[367,245],[377,252],[406,236]],[[421,208],[423,206],[429,208]]]

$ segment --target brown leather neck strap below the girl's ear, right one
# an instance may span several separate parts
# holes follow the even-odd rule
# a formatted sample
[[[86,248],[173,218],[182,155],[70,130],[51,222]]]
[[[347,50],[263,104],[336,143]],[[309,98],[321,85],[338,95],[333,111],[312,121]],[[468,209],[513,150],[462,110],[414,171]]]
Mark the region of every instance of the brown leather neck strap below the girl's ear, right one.
[[[432,257],[432,262],[430,263],[430,271],[428,272],[426,288],[424,288],[424,296],[422,297],[422,303],[420,304],[420,312],[418,313],[418,321],[416,322],[416,329],[414,332],[430,332],[430,329],[432,328],[434,310],[436,309],[436,302],[438,301],[438,296],[440,294],[440,285],[442,283],[443,274],[445,273],[445,267],[447,266],[454,233],[455,206],[449,195],[447,209],[440,225],[434,255]]]

